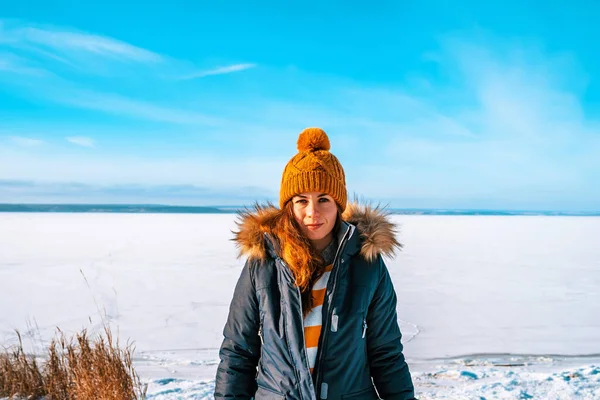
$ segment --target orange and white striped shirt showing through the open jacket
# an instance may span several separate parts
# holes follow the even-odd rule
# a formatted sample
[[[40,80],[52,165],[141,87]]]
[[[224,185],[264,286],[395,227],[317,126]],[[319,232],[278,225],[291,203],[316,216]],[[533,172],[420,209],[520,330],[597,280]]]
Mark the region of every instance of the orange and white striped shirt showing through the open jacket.
[[[308,365],[310,373],[315,369],[317,361],[317,350],[319,338],[321,337],[321,326],[323,323],[323,303],[325,302],[325,291],[333,264],[325,267],[323,275],[315,282],[312,288],[312,308],[304,318],[304,340],[308,354]]]

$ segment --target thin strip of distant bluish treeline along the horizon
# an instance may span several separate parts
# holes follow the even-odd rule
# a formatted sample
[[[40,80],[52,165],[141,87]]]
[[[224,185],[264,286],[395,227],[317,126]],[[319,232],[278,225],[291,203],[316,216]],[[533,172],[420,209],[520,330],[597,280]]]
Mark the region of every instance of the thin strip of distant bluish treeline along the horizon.
[[[0,212],[36,213],[130,213],[130,214],[235,214],[243,206],[168,206],[158,204],[1,204]],[[401,215],[545,215],[600,216],[599,212],[452,210],[388,208]]]

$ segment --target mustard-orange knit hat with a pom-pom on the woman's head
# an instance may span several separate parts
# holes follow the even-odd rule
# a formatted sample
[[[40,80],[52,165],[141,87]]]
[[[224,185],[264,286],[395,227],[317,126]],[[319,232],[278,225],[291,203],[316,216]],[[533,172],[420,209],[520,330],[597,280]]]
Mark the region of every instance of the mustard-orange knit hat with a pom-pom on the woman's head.
[[[346,209],[346,175],[339,160],[329,152],[331,147],[325,131],[306,128],[298,136],[298,154],[287,163],[281,177],[279,206],[304,192],[327,193]]]

